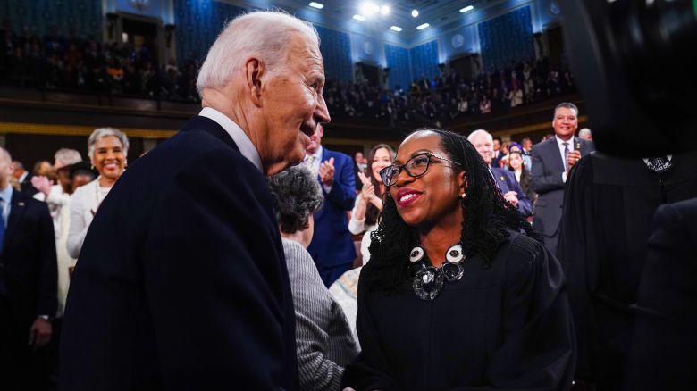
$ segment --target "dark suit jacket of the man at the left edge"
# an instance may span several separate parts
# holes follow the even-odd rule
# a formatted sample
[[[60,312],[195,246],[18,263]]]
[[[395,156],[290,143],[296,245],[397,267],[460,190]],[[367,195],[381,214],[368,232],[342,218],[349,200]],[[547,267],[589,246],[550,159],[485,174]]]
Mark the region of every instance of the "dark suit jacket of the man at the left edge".
[[[0,279],[13,309],[13,322],[27,329],[38,315],[55,316],[58,267],[54,223],[48,206],[13,191],[0,251]]]

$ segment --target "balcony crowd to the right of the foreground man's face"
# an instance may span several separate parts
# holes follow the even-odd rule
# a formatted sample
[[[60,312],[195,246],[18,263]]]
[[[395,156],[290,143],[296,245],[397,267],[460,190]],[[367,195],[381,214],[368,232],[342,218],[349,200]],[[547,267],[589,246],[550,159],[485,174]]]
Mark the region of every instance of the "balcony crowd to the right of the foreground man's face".
[[[511,62],[503,69],[491,67],[474,79],[442,71],[434,79],[414,79],[407,90],[401,86],[385,90],[365,80],[353,84],[330,80],[324,97],[337,117],[384,119],[390,126],[414,122],[433,126],[458,116],[505,112],[575,90],[565,62],[556,71],[547,57],[541,57]]]

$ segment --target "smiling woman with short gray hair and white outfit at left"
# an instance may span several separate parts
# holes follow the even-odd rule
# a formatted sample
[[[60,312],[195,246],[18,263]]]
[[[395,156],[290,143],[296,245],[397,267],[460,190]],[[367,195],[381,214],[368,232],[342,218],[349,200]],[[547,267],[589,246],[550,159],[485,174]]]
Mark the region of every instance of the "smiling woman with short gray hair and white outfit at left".
[[[119,129],[95,129],[88,138],[88,156],[92,167],[99,171],[97,179],[79,187],[71,197],[71,226],[68,234],[68,254],[80,255],[89,224],[99,204],[121,178],[126,168],[129,137]]]

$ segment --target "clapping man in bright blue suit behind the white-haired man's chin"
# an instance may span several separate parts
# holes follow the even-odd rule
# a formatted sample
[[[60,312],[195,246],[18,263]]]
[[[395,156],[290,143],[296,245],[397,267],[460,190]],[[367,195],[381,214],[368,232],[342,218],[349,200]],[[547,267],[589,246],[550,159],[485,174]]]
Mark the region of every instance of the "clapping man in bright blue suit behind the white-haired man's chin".
[[[356,179],[353,161],[347,154],[322,146],[324,129],[319,126],[310,137],[305,164],[317,173],[322,185],[324,204],[315,213],[315,236],[307,251],[312,255],[324,285],[329,287],[345,271],[353,267],[356,247],[348,231],[346,212],[356,202]]]

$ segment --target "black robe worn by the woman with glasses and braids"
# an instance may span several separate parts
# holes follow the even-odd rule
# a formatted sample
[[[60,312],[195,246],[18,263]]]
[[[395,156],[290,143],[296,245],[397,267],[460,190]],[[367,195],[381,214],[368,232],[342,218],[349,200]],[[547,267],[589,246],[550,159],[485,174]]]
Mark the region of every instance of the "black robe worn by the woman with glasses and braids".
[[[361,280],[371,273],[371,259]],[[404,267],[407,268],[405,259]],[[564,275],[544,245],[511,232],[490,268],[476,255],[432,301],[411,279],[397,293],[358,285],[363,352],[343,387],[390,390],[562,390],[571,387],[575,338]]]

